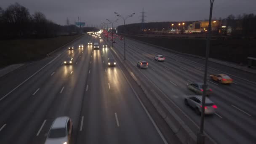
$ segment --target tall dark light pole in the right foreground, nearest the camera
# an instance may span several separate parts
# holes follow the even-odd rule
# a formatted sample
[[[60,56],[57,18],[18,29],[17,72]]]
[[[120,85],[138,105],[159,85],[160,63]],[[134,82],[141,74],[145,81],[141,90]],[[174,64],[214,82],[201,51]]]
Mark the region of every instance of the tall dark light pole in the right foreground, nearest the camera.
[[[206,42],[206,52],[205,52],[205,74],[203,80],[203,99],[202,99],[202,108],[201,108],[201,123],[200,123],[200,132],[197,134],[197,144],[205,143],[205,135],[203,134],[204,129],[204,118],[205,118],[205,95],[207,86],[207,67],[208,67],[208,57],[209,57],[209,48],[210,48],[210,40],[211,40],[211,17],[213,12],[213,2],[214,0],[210,0],[210,16],[209,16],[209,25],[208,25],[208,35]]]

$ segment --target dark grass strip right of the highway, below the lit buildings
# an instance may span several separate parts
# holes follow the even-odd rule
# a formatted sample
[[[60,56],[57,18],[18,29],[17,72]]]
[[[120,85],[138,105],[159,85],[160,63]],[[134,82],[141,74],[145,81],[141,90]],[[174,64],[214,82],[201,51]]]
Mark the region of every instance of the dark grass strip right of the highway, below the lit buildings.
[[[161,38],[131,36],[144,41],[182,53],[205,57],[206,40],[186,38]],[[214,59],[248,64],[247,57],[256,57],[256,40],[211,40],[209,56]]]

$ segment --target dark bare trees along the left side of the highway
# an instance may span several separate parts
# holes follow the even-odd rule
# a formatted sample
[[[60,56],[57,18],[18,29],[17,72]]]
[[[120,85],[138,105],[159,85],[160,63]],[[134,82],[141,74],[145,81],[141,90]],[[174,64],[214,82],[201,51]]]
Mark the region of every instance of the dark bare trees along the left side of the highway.
[[[61,26],[46,19],[41,12],[30,14],[19,3],[9,5],[5,10],[0,7],[0,39],[49,38],[60,33],[78,32],[75,25]]]

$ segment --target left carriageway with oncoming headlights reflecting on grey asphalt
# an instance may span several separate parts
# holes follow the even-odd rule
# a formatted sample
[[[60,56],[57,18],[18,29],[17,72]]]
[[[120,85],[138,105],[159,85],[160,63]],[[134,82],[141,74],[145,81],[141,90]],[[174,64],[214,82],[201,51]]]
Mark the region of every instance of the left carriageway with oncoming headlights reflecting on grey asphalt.
[[[111,51],[93,50],[88,41],[99,42],[85,35],[70,44],[74,50],[63,48],[0,77],[0,144],[44,144],[60,116],[73,121],[71,144],[167,143],[118,61],[107,66]],[[69,57],[73,64],[64,65]]]

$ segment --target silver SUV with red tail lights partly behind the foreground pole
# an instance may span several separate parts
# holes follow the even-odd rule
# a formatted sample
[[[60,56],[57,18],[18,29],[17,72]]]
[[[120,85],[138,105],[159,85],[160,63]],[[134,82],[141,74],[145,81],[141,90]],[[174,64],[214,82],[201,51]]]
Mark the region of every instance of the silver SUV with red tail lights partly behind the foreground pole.
[[[188,96],[185,98],[184,102],[187,106],[195,109],[198,115],[202,112],[202,98],[203,96]],[[217,106],[208,97],[205,97],[205,114],[212,115],[215,113]]]

